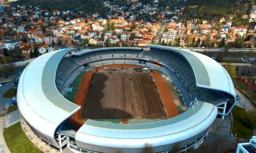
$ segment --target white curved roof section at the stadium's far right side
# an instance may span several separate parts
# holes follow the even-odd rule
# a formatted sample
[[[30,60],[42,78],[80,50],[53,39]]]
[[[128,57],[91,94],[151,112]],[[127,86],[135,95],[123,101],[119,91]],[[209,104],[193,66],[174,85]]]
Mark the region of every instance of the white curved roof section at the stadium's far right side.
[[[147,45],[147,47],[168,50],[183,55],[193,69],[198,87],[224,91],[232,94],[234,98],[236,97],[233,81],[229,74],[218,62],[207,55],[155,44]]]

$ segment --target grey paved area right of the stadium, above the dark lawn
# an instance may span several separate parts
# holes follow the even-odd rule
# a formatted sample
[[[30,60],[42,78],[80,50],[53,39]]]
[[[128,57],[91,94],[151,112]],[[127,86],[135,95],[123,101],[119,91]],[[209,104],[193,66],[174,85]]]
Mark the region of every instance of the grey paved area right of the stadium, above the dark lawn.
[[[251,101],[247,97],[245,97],[245,95],[243,93],[241,93],[236,88],[235,88],[235,91],[236,91],[236,95],[239,95],[239,97],[241,98],[240,101],[238,102],[238,105],[240,105],[247,111],[256,109],[255,106],[253,104],[251,104]]]

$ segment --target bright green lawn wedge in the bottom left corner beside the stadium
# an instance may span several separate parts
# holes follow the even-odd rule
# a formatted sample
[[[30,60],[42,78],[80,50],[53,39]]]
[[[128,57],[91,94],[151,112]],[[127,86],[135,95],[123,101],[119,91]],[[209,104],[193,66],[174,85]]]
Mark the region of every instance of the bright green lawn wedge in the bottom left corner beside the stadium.
[[[42,152],[26,136],[20,122],[4,130],[6,144],[11,152]]]

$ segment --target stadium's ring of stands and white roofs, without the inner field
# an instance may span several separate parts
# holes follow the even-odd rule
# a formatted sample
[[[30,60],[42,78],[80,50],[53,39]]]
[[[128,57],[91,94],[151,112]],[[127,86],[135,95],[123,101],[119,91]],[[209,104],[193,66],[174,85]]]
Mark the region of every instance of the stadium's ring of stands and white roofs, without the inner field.
[[[203,143],[216,116],[227,116],[236,103],[233,82],[215,60],[197,52],[150,44],[148,48],[63,49],[41,55],[24,69],[17,103],[34,133],[46,143],[75,151],[186,151]],[[64,96],[81,72],[93,66],[132,64],[167,75],[186,105],[171,119],[117,124],[87,119],[78,129],[67,126],[81,106]]]

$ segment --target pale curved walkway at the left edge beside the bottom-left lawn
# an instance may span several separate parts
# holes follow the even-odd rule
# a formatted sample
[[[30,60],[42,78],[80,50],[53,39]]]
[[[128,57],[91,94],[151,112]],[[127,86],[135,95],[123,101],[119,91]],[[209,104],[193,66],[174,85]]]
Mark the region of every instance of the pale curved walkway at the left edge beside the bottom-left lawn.
[[[5,143],[4,137],[4,127],[5,127],[5,116],[0,117],[0,152],[1,153],[10,153],[7,144]]]

